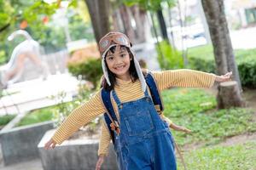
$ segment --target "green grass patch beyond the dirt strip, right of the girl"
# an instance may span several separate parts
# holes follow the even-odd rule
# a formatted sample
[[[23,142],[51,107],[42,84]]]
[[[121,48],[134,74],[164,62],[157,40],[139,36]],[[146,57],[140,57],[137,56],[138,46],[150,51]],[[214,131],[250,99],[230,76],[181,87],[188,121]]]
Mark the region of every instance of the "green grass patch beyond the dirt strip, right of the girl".
[[[165,115],[177,125],[188,127],[191,134],[172,131],[178,144],[219,141],[246,132],[256,132],[253,111],[247,108],[213,110],[215,97],[200,89],[177,88],[163,93]]]

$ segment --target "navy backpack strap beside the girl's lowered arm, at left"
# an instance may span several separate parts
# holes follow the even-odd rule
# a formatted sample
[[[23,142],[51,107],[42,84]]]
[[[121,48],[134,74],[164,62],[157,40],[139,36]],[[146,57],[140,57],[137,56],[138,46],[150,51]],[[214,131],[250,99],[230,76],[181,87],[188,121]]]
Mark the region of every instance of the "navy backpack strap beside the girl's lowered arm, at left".
[[[106,113],[104,113],[104,119],[108,126],[108,131],[111,135],[111,138],[114,144],[114,135],[115,135],[114,131],[116,133],[119,133],[119,122],[113,110],[110,93],[111,91],[108,91],[102,88],[102,103],[104,104],[105,109],[107,111]]]

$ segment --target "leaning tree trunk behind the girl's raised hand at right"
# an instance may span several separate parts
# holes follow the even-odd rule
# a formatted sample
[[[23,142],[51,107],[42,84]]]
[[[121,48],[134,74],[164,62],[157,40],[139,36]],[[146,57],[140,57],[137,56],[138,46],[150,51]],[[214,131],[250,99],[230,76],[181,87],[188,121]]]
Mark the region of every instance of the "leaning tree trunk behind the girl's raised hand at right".
[[[232,71],[241,89],[239,73],[230,41],[230,32],[224,14],[224,2],[223,0],[201,0],[201,3],[209,26],[217,72],[222,75]]]

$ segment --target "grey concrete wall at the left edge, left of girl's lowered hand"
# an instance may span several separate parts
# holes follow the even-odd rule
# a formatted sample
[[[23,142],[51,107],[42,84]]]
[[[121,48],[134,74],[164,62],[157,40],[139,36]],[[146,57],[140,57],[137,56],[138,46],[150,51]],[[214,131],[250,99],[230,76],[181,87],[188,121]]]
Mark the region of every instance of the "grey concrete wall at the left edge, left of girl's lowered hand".
[[[4,165],[38,158],[38,143],[44,133],[52,128],[53,122],[43,122],[1,131]]]

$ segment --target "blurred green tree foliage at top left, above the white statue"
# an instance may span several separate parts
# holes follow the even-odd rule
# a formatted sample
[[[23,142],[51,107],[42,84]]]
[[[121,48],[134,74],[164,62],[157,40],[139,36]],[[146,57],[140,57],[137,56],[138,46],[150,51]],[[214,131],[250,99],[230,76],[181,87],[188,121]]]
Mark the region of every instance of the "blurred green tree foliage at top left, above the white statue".
[[[84,2],[80,2],[84,3]],[[73,40],[87,38],[93,41],[93,32],[90,22],[85,23],[78,17],[77,0],[69,1],[67,10],[68,20],[71,21],[68,29]],[[14,42],[8,42],[7,37],[13,32],[20,29],[21,21],[27,21],[26,31],[44,46],[46,53],[66,48],[66,37],[63,27],[53,23],[51,16],[55,14],[57,3],[44,3],[44,1],[1,1],[0,2],[0,28],[3,29],[0,34],[0,64],[4,64],[9,60],[12,50],[18,44],[15,38]],[[86,13],[87,8],[83,8]],[[88,13],[88,12],[87,12]],[[7,18],[8,17],[8,18]],[[49,22],[44,23],[44,19],[48,18]],[[77,33],[79,32],[79,33]],[[2,53],[4,52],[4,54]]]

